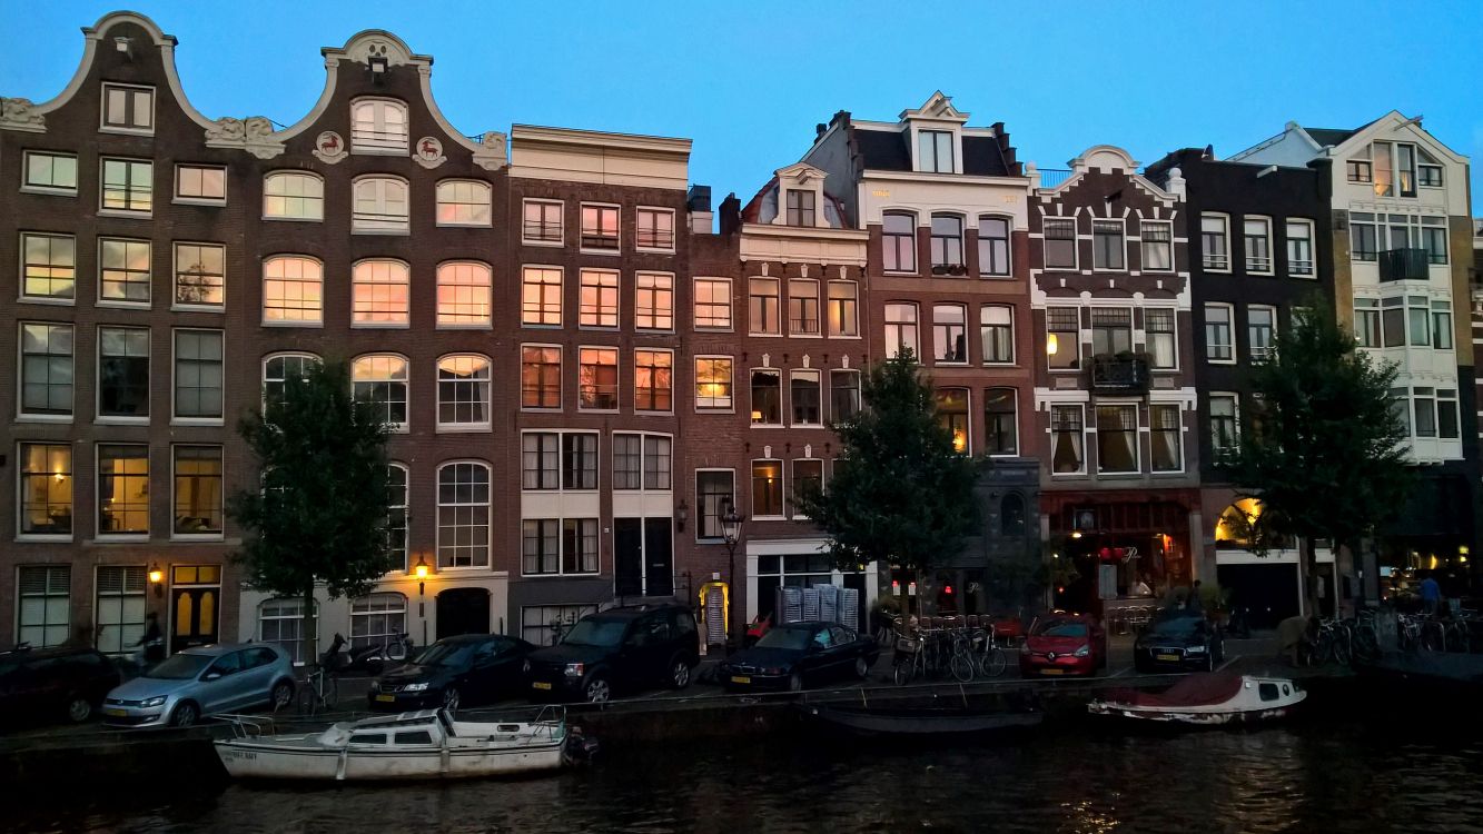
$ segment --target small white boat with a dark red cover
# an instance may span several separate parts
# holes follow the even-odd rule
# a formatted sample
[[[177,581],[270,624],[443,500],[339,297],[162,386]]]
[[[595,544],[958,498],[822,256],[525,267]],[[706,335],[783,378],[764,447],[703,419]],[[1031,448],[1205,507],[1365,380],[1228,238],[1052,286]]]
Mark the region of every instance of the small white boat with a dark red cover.
[[[1200,673],[1163,692],[1115,690],[1087,704],[1093,715],[1164,724],[1226,726],[1272,721],[1292,714],[1308,693],[1280,677]]]

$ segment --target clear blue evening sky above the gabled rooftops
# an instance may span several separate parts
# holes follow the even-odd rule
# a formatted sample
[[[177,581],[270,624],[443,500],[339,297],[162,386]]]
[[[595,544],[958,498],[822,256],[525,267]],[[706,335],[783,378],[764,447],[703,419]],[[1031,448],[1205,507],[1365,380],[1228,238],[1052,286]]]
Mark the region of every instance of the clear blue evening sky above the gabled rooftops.
[[[79,28],[119,7],[179,40],[185,95],[212,119],[297,121],[323,89],[320,47],[383,28],[435,58],[433,95],[463,133],[685,136],[691,181],[718,201],[750,199],[835,111],[891,121],[939,89],[970,124],[1004,121],[1040,167],[1099,144],[1142,163],[1226,157],[1289,120],[1355,127],[1391,110],[1483,160],[1480,0],[0,0],[0,31],[24,33],[0,95],[56,95]]]

